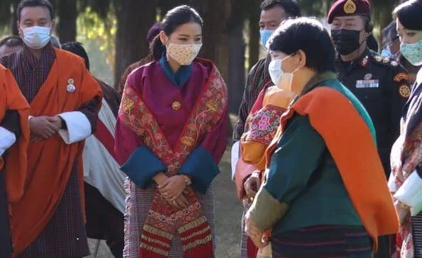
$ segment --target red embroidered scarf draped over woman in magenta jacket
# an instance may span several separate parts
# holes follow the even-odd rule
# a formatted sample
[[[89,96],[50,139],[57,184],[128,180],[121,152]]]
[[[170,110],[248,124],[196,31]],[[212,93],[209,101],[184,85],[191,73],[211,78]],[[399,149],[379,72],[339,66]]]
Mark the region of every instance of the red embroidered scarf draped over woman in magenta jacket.
[[[167,142],[152,112],[132,87],[126,87],[121,105],[123,111],[119,117],[123,123],[142,137],[150,150],[167,165],[167,175],[172,176],[208,130],[223,117],[228,105],[228,93],[226,83],[213,66],[174,149]],[[140,236],[140,257],[168,257],[176,233],[182,240],[184,257],[213,257],[211,228],[196,194],[190,187],[187,190],[185,197],[189,206],[182,210],[168,204],[159,192],[155,194]]]

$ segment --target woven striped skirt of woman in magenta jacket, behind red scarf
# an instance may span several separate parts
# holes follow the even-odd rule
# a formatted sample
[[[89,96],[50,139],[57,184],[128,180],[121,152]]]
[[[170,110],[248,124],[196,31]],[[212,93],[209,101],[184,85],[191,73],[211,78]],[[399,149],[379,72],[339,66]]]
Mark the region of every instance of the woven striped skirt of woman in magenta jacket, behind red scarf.
[[[156,187],[149,189],[140,189],[133,182],[126,179],[126,212],[125,212],[125,248],[123,257],[125,258],[148,258],[139,257],[140,235],[143,230],[145,218],[148,216],[152,200],[157,192]],[[213,238],[213,247],[215,252],[216,238],[214,230],[213,214],[213,191],[211,187],[206,194],[196,193],[199,203],[202,206],[204,215],[209,222]],[[170,258],[183,257],[183,245],[179,235],[174,235],[172,246],[169,252]]]

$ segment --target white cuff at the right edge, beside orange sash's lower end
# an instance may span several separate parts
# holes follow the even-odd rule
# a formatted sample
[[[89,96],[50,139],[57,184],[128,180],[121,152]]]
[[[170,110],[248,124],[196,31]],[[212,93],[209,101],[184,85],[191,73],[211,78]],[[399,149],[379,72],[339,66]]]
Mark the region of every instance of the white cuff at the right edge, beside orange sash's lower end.
[[[404,181],[394,198],[411,207],[411,216],[422,211],[422,178],[416,170]]]

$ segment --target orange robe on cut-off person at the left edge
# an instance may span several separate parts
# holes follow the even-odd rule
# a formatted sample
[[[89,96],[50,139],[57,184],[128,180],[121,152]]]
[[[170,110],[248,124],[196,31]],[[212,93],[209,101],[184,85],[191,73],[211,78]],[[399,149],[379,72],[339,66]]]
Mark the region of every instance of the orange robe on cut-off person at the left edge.
[[[4,167],[6,192],[8,200],[16,203],[23,196],[26,180],[26,149],[29,141],[29,105],[16,84],[11,71],[0,64],[0,122],[6,110],[16,110],[20,116],[21,136],[9,148],[9,158],[6,165],[0,156],[0,170]]]

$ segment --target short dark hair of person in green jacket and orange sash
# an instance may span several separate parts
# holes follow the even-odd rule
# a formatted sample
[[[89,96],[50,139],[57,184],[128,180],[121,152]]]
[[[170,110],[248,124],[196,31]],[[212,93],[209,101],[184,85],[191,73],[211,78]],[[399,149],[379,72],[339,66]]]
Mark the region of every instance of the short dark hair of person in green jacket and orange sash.
[[[285,20],[269,41],[270,51],[306,54],[306,67],[317,71],[335,71],[335,50],[328,31],[318,20],[296,18]]]

